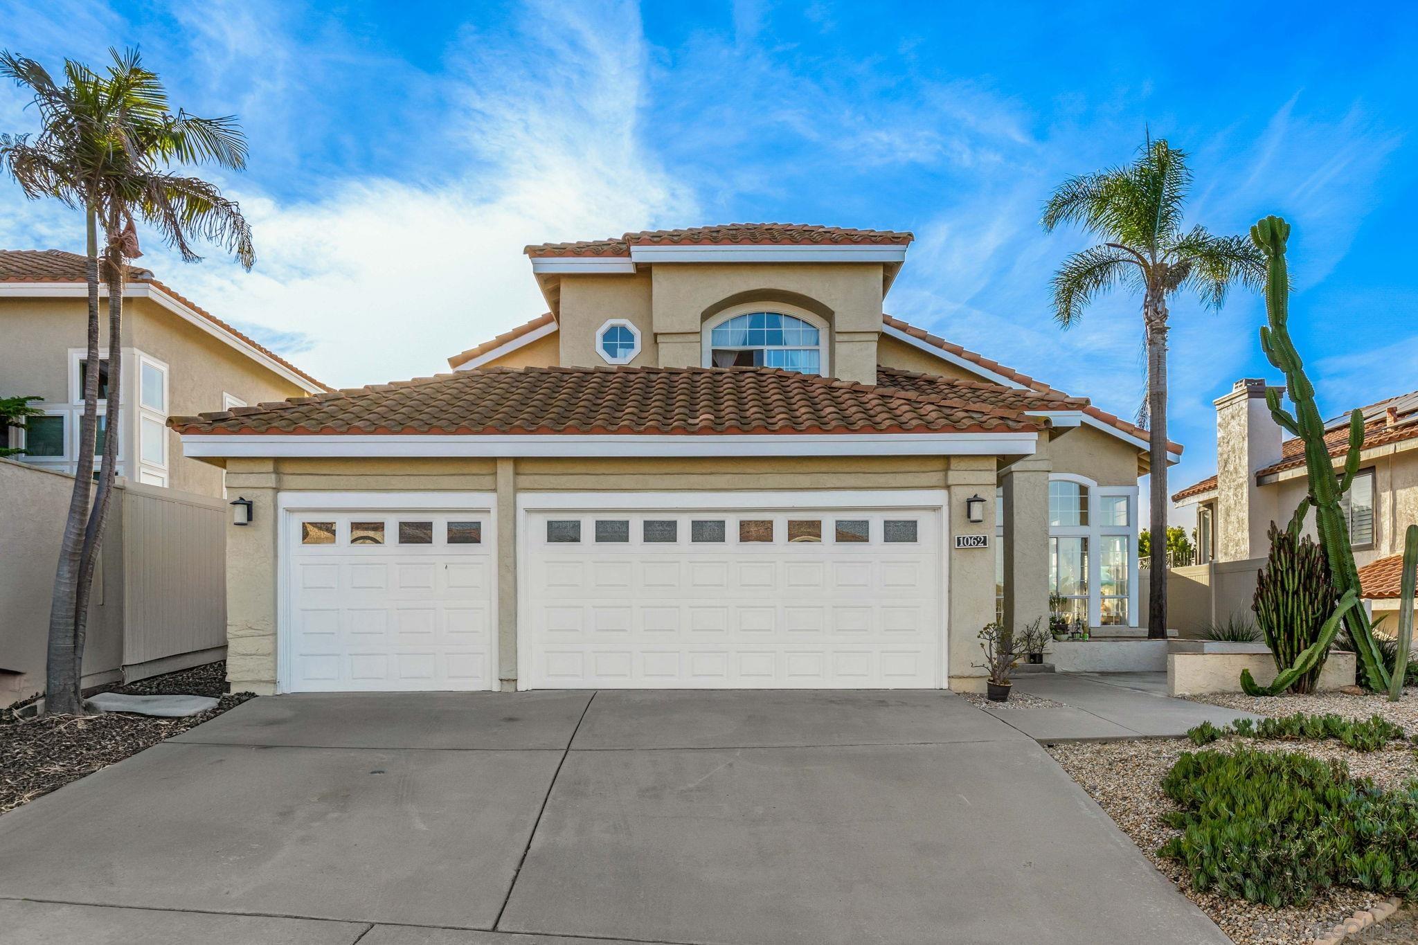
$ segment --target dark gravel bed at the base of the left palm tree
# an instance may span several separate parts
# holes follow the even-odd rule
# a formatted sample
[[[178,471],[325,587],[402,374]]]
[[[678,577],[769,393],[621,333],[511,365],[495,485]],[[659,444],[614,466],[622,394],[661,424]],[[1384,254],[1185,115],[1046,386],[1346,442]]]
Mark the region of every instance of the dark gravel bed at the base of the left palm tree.
[[[216,708],[186,718],[128,713],[20,718],[14,707],[0,710],[0,813],[255,698],[252,693],[227,693],[225,669],[224,662],[207,663],[108,689],[135,696],[191,694],[221,700]]]

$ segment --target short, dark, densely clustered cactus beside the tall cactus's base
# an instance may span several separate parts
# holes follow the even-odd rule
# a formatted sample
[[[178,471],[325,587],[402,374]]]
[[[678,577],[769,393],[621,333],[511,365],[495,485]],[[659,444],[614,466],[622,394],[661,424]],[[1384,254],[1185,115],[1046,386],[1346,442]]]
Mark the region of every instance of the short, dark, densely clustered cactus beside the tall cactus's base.
[[[1271,523],[1271,553],[1255,582],[1255,619],[1265,632],[1265,642],[1283,672],[1314,645],[1326,618],[1334,611],[1324,551],[1309,536],[1297,537]],[[1327,652],[1290,686],[1309,693],[1324,669]]]

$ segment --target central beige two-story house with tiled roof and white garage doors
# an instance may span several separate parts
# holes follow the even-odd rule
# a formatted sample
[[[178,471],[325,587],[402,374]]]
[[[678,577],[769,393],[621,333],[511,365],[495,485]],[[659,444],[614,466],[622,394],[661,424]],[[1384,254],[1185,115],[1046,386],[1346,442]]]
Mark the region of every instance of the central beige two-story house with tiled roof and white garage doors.
[[[451,374],[172,418],[251,503],[230,680],[977,689],[997,606],[1136,623],[1147,432],[883,315],[910,242],[527,247],[550,310]]]

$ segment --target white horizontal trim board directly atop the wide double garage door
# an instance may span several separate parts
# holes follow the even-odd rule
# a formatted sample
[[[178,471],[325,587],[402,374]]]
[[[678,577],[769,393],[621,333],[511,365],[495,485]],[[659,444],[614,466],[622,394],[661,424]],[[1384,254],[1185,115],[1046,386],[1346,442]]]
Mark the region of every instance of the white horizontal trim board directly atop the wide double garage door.
[[[519,492],[518,510],[573,509],[940,509],[944,489],[791,489],[781,492]]]

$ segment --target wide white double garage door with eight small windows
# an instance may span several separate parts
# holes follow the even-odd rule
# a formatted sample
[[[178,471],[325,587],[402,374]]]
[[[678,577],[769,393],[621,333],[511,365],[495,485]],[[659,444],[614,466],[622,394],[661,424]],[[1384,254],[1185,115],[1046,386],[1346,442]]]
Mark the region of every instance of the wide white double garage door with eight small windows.
[[[523,687],[944,684],[939,509],[638,499],[523,513]]]

